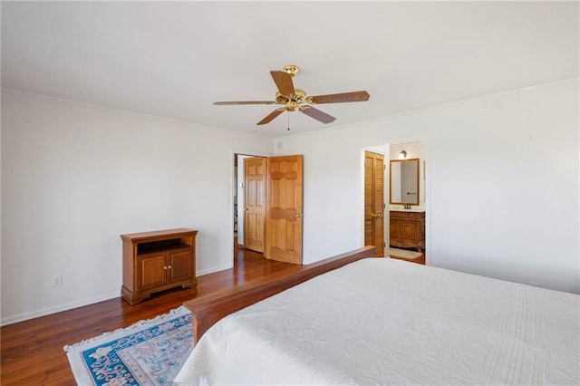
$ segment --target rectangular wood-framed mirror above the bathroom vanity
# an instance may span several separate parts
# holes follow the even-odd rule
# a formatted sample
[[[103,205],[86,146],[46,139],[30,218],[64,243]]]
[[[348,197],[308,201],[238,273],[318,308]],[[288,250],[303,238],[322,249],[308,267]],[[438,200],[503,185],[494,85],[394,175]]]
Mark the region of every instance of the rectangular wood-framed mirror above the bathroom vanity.
[[[419,205],[419,159],[391,159],[391,204]]]

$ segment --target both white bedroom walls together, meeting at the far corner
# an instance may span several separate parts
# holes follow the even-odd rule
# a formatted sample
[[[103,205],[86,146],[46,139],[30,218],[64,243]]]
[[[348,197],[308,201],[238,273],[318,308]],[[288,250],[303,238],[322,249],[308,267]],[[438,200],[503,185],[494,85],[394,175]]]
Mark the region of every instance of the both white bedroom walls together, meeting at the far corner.
[[[362,150],[426,139],[430,265],[579,293],[579,85],[279,139],[277,155],[304,154],[304,263],[362,246]],[[198,275],[229,267],[234,153],[273,151],[14,92],[1,146],[3,324],[118,297],[123,233],[195,228]]]

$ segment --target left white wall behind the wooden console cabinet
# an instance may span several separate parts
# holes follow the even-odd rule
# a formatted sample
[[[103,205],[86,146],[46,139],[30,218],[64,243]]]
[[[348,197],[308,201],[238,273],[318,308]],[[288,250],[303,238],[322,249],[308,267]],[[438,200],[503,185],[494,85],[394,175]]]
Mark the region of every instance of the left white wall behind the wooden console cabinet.
[[[120,296],[124,233],[198,229],[198,275],[231,266],[235,151],[272,141],[3,91],[2,323]]]

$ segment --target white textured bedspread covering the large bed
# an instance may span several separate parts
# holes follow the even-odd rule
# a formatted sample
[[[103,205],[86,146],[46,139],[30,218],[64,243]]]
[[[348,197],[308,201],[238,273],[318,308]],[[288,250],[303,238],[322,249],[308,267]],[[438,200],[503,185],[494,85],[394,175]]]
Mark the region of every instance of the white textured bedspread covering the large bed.
[[[580,384],[580,296],[370,258],[231,314],[176,384]]]

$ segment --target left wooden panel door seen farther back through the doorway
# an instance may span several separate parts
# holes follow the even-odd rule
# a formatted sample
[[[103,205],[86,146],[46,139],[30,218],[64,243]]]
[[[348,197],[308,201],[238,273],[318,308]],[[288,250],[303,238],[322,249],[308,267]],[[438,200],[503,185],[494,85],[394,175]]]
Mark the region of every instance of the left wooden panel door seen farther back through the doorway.
[[[244,159],[244,247],[264,252],[266,159]]]

